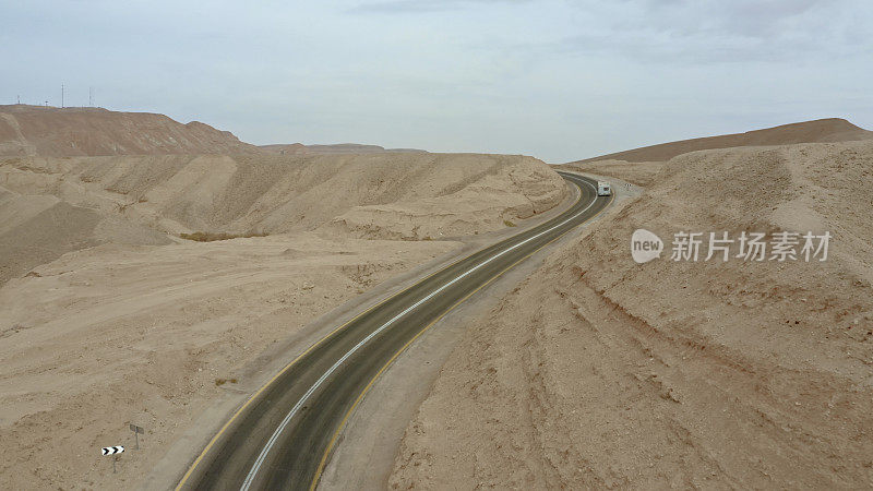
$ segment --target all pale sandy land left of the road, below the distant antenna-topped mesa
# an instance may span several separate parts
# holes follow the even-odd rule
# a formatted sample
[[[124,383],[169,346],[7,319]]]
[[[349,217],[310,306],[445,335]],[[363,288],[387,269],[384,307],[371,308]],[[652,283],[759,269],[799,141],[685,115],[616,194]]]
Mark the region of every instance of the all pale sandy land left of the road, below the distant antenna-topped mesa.
[[[458,247],[381,239],[506,229],[565,192],[521,156],[0,158],[0,488],[136,484],[271,347]],[[270,236],[174,236],[198,230]],[[128,422],[145,444],[112,475]]]

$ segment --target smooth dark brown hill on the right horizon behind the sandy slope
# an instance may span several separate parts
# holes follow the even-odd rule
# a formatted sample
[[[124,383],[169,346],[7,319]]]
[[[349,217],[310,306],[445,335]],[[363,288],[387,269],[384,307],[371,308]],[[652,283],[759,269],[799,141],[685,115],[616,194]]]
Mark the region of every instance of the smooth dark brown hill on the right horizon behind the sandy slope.
[[[677,155],[702,149],[730,148],[736,146],[790,145],[796,143],[848,142],[873,139],[873,131],[866,131],[845,119],[830,118],[782,124],[745,133],[682,140],[645,146],[599,157],[569,163],[585,164],[597,160],[625,160],[631,163],[665,161]]]

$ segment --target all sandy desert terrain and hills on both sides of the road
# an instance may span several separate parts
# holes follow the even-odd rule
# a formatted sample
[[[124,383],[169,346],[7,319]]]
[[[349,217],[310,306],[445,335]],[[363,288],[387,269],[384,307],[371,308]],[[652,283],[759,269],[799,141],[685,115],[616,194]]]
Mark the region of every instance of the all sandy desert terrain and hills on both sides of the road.
[[[873,487],[871,133],[818,120],[560,168],[619,199],[461,321],[382,484]],[[320,323],[569,197],[531,157],[0,107],[0,488],[172,480]],[[638,228],[832,239],[823,262],[636,264]],[[142,450],[113,475],[98,448],[132,445],[130,422]]]

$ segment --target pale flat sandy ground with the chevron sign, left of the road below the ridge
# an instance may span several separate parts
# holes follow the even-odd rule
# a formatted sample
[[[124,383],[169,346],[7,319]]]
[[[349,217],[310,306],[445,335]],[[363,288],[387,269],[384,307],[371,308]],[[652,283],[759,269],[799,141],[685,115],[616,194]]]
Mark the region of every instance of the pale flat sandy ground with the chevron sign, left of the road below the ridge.
[[[295,237],[106,244],[0,289],[0,488],[128,488],[241,371],[319,314],[455,247]],[[218,379],[238,379],[216,385]],[[99,447],[147,429],[123,471]],[[47,452],[50,451],[50,458]]]

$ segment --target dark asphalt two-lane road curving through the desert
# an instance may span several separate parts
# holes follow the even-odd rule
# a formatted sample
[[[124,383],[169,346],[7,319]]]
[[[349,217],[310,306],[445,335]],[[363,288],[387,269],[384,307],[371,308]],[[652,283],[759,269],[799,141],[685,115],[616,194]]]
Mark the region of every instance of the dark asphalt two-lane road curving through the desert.
[[[597,183],[565,213],[421,279],[322,338],[249,399],[178,489],[311,489],[363,394],[421,333],[538,249],[603,209]]]

